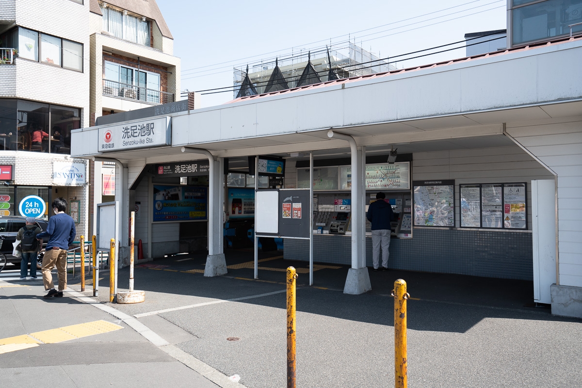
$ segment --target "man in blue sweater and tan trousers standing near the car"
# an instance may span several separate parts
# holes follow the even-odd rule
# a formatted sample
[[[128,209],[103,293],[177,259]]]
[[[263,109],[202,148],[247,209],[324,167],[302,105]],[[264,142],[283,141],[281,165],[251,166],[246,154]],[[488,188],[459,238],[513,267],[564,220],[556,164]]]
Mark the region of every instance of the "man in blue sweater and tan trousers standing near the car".
[[[44,289],[48,290],[44,298],[62,297],[63,291],[67,288],[67,249],[73,244],[77,231],[73,219],[65,214],[66,209],[67,201],[64,198],[56,198],[52,201],[52,211],[55,215],[48,220],[47,230],[37,234],[38,240],[49,237],[44,258],[42,258],[42,281]],[[55,265],[59,275],[58,291],[55,290],[51,275]]]

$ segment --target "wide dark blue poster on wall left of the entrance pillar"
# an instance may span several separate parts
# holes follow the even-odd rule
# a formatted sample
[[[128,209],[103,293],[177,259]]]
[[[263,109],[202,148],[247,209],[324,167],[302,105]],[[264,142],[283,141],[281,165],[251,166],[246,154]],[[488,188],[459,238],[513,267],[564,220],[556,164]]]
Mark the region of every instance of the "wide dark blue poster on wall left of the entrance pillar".
[[[154,222],[208,219],[208,188],[154,184]]]

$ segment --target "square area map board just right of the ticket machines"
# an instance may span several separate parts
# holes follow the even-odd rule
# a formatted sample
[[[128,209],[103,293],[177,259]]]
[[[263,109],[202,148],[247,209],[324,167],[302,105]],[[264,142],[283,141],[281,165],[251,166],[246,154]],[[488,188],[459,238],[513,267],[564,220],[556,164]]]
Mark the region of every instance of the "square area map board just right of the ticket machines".
[[[414,226],[455,226],[455,180],[414,181]]]

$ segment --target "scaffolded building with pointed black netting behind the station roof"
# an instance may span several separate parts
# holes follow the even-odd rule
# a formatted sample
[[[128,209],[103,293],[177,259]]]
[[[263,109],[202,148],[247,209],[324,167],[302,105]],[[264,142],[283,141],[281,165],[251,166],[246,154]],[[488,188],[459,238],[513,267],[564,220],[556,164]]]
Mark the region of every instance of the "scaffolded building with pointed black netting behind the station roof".
[[[321,49],[234,70],[234,97],[286,90],[354,76],[388,72],[396,67],[349,43],[345,48]]]

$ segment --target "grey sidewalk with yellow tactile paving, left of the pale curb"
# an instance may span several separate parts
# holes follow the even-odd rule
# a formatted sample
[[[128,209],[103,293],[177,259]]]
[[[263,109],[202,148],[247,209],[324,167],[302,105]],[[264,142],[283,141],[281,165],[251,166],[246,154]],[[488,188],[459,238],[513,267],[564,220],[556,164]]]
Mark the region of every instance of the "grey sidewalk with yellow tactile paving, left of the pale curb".
[[[218,387],[107,312],[68,293],[49,299],[42,298],[44,294],[41,280],[0,277],[0,338],[33,333],[56,342],[0,354],[0,387]],[[95,321],[121,328],[87,336],[90,326],[76,331],[65,328]],[[168,334],[171,344],[193,338],[170,326],[168,332],[160,331]],[[39,333],[44,330],[49,332]],[[81,337],[75,339],[69,332]]]

